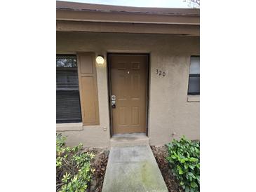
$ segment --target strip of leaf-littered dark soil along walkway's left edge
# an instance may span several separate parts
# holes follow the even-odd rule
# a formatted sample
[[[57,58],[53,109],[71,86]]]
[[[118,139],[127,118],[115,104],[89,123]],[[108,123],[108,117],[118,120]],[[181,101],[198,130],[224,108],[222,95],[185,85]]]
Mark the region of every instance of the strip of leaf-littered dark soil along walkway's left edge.
[[[90,181],[90,189],[88,191],[101,192],[105,172],[107,169],[107,160],[109,158],[108,149],[85,149],[85,151],[93,152],[95,157],[93,158],[92,167],[95,169],[93,178]]]

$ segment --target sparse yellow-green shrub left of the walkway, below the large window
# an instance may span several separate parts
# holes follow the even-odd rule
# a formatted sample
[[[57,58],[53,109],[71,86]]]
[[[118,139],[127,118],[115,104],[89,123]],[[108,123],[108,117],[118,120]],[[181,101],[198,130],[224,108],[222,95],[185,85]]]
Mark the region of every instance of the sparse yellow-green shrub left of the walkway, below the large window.
[[[85,153],[83,145],[69,147],[66,137],[56,136],[56,190],[61,192],[86,191],[93,169],[93,153]]]

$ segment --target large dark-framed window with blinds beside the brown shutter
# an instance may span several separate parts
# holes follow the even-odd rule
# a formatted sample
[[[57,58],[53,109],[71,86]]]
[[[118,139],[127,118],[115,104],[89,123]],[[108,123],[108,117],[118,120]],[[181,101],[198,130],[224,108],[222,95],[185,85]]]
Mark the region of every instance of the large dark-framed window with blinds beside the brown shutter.
[[[76,55],[56,57],[56,123],[81,122]]]

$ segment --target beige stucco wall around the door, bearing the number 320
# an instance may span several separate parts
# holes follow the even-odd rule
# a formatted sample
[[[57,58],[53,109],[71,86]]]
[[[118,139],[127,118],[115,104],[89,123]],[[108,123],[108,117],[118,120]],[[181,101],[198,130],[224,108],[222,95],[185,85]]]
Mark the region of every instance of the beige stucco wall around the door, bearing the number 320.
[[[169,34],[110,34],[58,32],[57,53],[93,51],[107,58],[108,52],[150,53],[149,125],[151,145],[166,144],[185,135],[199,139],[199,102],[187,96],[190,55],[199,55],[198,36]],[[166,76],[155,74],[156,69]],[[83,130],[64,131],[67,144],[109,146],[109,107],[107,98],[107,64],[97,65],[100,125],[83,126]]]

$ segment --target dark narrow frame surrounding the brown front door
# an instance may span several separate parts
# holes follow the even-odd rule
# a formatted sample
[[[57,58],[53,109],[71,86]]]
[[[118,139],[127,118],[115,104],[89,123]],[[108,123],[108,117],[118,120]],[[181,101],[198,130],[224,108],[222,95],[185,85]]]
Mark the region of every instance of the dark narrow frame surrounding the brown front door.
[[[146,71],[146,132],[145,134],[148,136],[148,125],[149,125],[149,82],[150,82],[150,53],[114,53],[114,52],[107,52],[107,91],[108,91],[108,105],[109,105],[109,130],[110,130],[110,137],[112,137],[113,134],[113,128],[112,128],[112,106],[111,106],[111,64],[109,62],[109,55],[147,55],[147,71]]]

